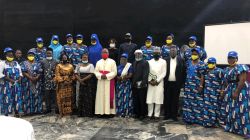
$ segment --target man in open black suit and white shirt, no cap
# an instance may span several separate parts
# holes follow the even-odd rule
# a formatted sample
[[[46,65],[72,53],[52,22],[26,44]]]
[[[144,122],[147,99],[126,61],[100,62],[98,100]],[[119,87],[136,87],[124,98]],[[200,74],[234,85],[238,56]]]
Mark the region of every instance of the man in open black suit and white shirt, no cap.
[[[170,56],[166,58],[167,74],[164,84],[164,108],[165,119],[172,118],[178,121],[179,95],[180,89],[185,83],[184,60],[177,54],[177,47],[170,48]]]

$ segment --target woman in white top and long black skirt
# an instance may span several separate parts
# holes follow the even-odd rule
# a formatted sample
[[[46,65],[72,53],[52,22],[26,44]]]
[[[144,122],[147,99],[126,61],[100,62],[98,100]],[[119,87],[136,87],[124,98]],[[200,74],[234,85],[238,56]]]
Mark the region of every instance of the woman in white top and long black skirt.
[[[96,82],[94,65],[88,62],[88,54],[82,55],[82,62],[75,69],[76,79],[80,83],[78,115],[93,117],[95,113]]]

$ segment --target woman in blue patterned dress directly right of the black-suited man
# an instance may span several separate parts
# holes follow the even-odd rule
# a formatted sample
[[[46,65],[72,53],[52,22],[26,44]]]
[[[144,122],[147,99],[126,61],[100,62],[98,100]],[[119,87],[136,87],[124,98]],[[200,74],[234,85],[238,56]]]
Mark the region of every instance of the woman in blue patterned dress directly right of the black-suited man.
[[[192,49],[192,61],[187,61],[187,76],[183,98],[183,120],[188,124],[203,124],[204,62],[198,48]]]

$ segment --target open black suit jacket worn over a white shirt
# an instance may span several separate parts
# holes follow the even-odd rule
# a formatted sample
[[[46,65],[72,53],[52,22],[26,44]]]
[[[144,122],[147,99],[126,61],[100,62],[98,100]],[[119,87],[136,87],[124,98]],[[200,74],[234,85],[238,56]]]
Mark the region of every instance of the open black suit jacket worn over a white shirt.
[[[183,84],[185,83],[185,79],[186,79],[186,68],[185,68],[185,62],[184,60],[181,58],[180,55],[177,55],[177,63],[176,63],[176,69],[175,69],[175,78],[176,78],[176,82],[178,83],[179,87],[181,88],[183,86]],[[166,58],[167,61],[167,74],[165,77],[165,84],[168,83],[168,78],[169,78],[169,74],[170,74],[170,57]]]

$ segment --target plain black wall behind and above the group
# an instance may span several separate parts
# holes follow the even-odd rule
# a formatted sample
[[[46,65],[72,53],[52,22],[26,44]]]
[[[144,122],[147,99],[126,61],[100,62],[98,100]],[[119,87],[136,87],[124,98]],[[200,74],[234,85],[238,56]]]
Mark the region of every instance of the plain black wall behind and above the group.
[[[27,50],[38,36],[49,45],[52,34],[64,44],[67,33],[82,33],[87,45],[97,33],[105,46],[126,32],[139,45],[147,35],[162,45],[169,32],[178,45],[191,34],[203,45],[206,24],[249,20],[249,0],[0,0],[0,47]]]

